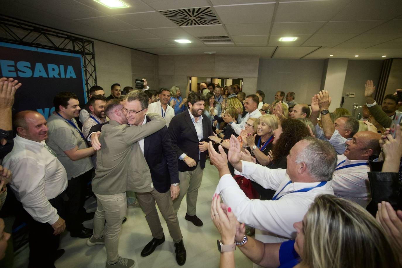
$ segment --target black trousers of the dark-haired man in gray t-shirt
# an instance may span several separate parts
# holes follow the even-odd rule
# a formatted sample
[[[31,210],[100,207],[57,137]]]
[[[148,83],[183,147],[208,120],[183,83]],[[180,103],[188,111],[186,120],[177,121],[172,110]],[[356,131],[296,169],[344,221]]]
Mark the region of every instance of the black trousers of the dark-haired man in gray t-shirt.
[[[66,225],[67,229],[71,232],[79,232],[83,228],[83,215],[86,213],[84,209],[85,190],[88,182],[91,180],[91,174],[92,170],[88,170],[68,181],[66,189],[68,196]]]

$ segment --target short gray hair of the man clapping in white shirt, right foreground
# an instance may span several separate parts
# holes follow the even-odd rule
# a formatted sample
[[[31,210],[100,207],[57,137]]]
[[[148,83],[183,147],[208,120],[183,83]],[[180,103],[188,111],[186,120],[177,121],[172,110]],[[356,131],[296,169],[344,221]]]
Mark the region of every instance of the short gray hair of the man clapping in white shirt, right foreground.
[[[305,137],[307,145],[297,156],[296,164],[304,162],[310,176],[317,181],[330,181],[338,162],[338,155],[328,141]]]

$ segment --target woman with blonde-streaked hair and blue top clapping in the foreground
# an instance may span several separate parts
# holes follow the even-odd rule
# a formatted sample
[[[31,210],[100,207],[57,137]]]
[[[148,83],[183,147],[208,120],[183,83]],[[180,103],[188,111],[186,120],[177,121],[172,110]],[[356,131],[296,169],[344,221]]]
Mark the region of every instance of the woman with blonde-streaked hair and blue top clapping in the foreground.
[[[286,213],[284,211],[284,213]],[[386,268],[401,267],[394,244],[365,209],[329,194],[317,196],[302,221],[293,224],[295,240],[263,243],[244,234],[230,207],[214,196],[211,218],[223,245],[238,247],[263,267]],[[220,266],[234,266],[234,252],[220,255]]]

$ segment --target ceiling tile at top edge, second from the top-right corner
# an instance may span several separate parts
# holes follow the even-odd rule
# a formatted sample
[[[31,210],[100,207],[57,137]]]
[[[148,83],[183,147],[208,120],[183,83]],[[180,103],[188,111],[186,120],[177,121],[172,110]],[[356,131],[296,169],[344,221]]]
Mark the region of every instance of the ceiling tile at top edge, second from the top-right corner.
[[[275,22],[327,21],[348,2],[349,0],[279,2]]]

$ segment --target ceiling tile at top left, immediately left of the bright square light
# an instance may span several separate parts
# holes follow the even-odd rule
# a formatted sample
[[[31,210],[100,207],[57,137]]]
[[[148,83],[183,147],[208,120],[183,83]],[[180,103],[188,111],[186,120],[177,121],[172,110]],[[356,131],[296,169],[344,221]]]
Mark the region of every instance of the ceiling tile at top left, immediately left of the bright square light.
[[[54,0],[17,0],[16,2],[49,12],[51,14],[74,20],[77,18],[92,18],[106,16],[104,12],[100,12],[94,8],[90,8],[84,4],[75,1],[54,1]]]

